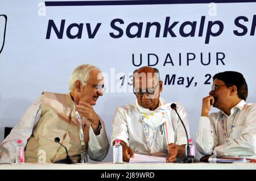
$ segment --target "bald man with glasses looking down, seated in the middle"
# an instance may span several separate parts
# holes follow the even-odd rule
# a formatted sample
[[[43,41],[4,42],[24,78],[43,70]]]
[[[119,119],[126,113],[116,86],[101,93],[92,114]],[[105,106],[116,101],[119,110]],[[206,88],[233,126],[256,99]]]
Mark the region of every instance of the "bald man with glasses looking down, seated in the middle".
[[[118,107],[113,120],[111,142],[121,140],[123,161],[129,162],[134,153],[166,157],[167,162],[184,157],[187,137],[171,103],[160,98],[162,90],[158,69],[144,66],[134,71],[135,103]],[[176,104],[189,136],[187,112]]]

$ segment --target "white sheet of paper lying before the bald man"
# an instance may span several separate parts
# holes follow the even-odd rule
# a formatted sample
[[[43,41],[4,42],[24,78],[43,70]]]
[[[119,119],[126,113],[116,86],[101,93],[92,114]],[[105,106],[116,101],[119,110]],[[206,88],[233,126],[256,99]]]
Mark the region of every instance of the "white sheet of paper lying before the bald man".
[[[166,163],[166,158],[134,154],[134,158],[130,158],[129,163]]]

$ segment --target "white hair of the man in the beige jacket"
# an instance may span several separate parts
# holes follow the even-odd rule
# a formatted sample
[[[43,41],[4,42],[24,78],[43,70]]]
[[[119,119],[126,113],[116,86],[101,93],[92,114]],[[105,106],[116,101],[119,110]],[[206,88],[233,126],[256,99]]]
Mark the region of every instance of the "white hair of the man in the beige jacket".
[[[86,83],[84,82],[88,80],[91,71],[101,71],[101,70],[96,66],[93,66],[90,64],[79,65],[69,77],[69,83],[68,83],[69,91],[72,91],[75,88],[75,82],[77,80],[81,81],[83,85],[86,85]]]

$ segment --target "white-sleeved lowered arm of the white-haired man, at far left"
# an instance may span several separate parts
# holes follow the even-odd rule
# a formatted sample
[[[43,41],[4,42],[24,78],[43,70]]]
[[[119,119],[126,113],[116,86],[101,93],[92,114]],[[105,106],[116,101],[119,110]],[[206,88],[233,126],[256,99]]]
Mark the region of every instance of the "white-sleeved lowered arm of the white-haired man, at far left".
[[[19,123],[11,130],[9,136],[3,140],[0,145],[0,163],[14,163],[17,140],[22,140],[23,145],[27,145],[27,140],[41,117],[41,98],[42,96],[36,99],[24,113]]]

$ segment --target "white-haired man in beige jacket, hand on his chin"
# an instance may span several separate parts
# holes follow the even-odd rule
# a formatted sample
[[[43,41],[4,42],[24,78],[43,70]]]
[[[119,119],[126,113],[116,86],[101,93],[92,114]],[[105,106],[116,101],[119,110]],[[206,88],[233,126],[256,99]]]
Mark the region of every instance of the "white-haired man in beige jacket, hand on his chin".
[[[99,74],[100,70],[95,66],[83,64],[71,75],[71,92],[43,92],[0,145],[0,162],[15,161],[17,140],[23,141],[25,162],[52,163],[63,160],[66,157],[65,149],[55,142],[55,137],[59,137],[60,143],[67,147],[71,159],[79,162],[83,148],[81,132],[89,157],[96,161],[104,159],[109,150],[108,137],[104,121],[92,107],[103,95],[103,80],[98,79]],[[82,117],[82,123],[75,111]]]

